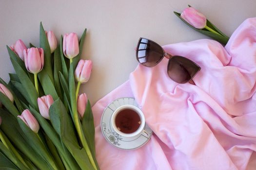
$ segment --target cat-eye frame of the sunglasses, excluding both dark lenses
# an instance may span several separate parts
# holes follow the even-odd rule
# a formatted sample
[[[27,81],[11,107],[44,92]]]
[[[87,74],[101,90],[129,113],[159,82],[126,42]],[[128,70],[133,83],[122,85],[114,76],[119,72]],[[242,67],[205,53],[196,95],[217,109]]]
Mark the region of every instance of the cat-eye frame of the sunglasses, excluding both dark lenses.
[[[169,61],[168,61],[168,65],[167,65],[167,74],[168,74],[168,68],[169,68],[169,65],[170,65],[170,62],[174,59],[174,58],[176,58],[176,57],[179,57],[179,58],[185,58],[186,60],[188,60],[188,61],[190,61],[191,63],[193,63],[195,66],[197,66],[197,72],[188,80],[188,81],[186,81],[186,82],[183,82],[183,83],[178,83],[178,84],[186,84],[186,83],[191,83],[191,84],[194,84],[195,85],[195,82],[192,80],[195,76],[196,76],[196,74],[198,73],[198,71],[200,71],[200,66],[198,66],[197,65],[197,63],[195,63],[194,61],[192,61],[192,60],[190,60],[190,59],[188,59],[188,58],[186,58],[186,57],[183,57],[183,56],[179,56],[179,55],[171,55],[171,54],[169,54],[169,53],[167,53],[167,52],[165,52],[164,50],[163,50],[163,48],[158,44],[158,43],[156,43],[155,41],[152,41],[152,40],[150,40],[150,39],[147,39],[147,38],[143,38],[143,37],[140,37],[139,39],[138,39],[138,44],[137,44],[137,48],[136,48],[136,59],[137,59],[137,61],[138,61],[138,63],[140,63],[139,62],[139,57],[138,57],[138,51],[140,51],[139,50],[139,44],[146,44],[146,43],[141,43],[141,39],[146,39],[146,40],[148,40],[148,41],[151,41],[152,43],[155,43],[158,47],[160,47],[161,49],[162,49],[162,51],[163,51],[163,56],[162,56],[162,58],[155,64],[155,65],[153,65],[153,66],[145,66],[145,65],[143,65],[143,66],[145,66],[145,67],[154,67],[154,66],[156,66],[156,65],[158,65],[158,63],[160,62],[160,61],[162,61],[162,59],[164,58],[164,57],[166,57],[166,58],[169,58]],[[142,50],[145,50],[145,49],[142,49]],[[141,64],[141,63],[140,63]],[[170,75],[168,74],[168,76],[170,77]],[[171,77],[170,77],[170,79],[172,79]],[[172,79],[173,80],[173,79]],[[173,80],[174,82],[176,82],[175,80]],[[177,83],[177,82],[176,82]]]

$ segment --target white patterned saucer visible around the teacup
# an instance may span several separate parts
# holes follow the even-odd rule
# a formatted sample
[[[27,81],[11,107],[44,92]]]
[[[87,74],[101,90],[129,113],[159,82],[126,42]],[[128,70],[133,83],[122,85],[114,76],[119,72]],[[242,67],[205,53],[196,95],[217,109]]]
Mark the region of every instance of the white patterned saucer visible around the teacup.
[[[111,125],[111,116],[113,112],[122,105],[125,104],[131,104],[136,107],[138,107],[137,102],[135,101],[134,98],[120,98],[117,99],[113,102],[111,102],[104,110],[102,117],[101,117],[101,131],[105,139],[112,144],[113,146],[119,148],[119,149],[124,149],[124,150],[133,150],[137,149],[144,144],[147,143],[147,141],[150,139],[152,136],[153,132],[152,130],[148,127],[147,123],[145,125],[144,130],[149,133],[149,137],[143,136],[142,134],[139,136],[134,136],[134,137],[124,137],[120,136],[118,133],[116,133],[113,130],[113,127]]]

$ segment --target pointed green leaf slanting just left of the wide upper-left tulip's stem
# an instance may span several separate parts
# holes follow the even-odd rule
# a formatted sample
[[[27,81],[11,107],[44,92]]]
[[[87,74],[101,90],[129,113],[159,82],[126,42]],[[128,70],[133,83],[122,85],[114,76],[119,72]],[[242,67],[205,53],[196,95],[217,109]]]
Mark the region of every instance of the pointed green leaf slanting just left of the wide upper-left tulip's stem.
[[[16,74],[18,75],[18,77],[20,79],[20,82],[23,86],[23,90],[25,90],[27,92],[26,95],[29,98],[28,102],[30,102],[30,104],[34,108],[38,108],[37,99],[38,99],[39,96],[38,96],[38,93],[37,93],[37,90],[36,90],[35,86],[30,81],[28,75],[24,72],[24,70],[20,67],[20,65],[12,58],[11,58],[11,62],[13,64],[13,67],[14,67],[15,71],[16,71]]]

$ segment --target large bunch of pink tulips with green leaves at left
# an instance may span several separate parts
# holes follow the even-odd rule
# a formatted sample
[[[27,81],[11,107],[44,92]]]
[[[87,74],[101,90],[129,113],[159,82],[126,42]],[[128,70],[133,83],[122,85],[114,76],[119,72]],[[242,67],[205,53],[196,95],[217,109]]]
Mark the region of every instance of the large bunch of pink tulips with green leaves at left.
[[[86,29],[59,45],[41,23],[39,33],[39,48],[7,46],[16,73],[0,79],[0,169],[98,170],[91,105],[79,95],[92,70],[80,59]]]

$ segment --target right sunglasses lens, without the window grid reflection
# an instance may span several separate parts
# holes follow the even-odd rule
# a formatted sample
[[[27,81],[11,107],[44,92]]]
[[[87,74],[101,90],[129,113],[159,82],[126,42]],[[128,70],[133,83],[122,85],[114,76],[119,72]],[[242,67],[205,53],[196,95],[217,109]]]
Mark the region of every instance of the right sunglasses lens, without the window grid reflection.
[[[173,56],[169,60],[167,69],[168,75],[173,81],[184,84],[197,74],[200,67],[185,57]]]

